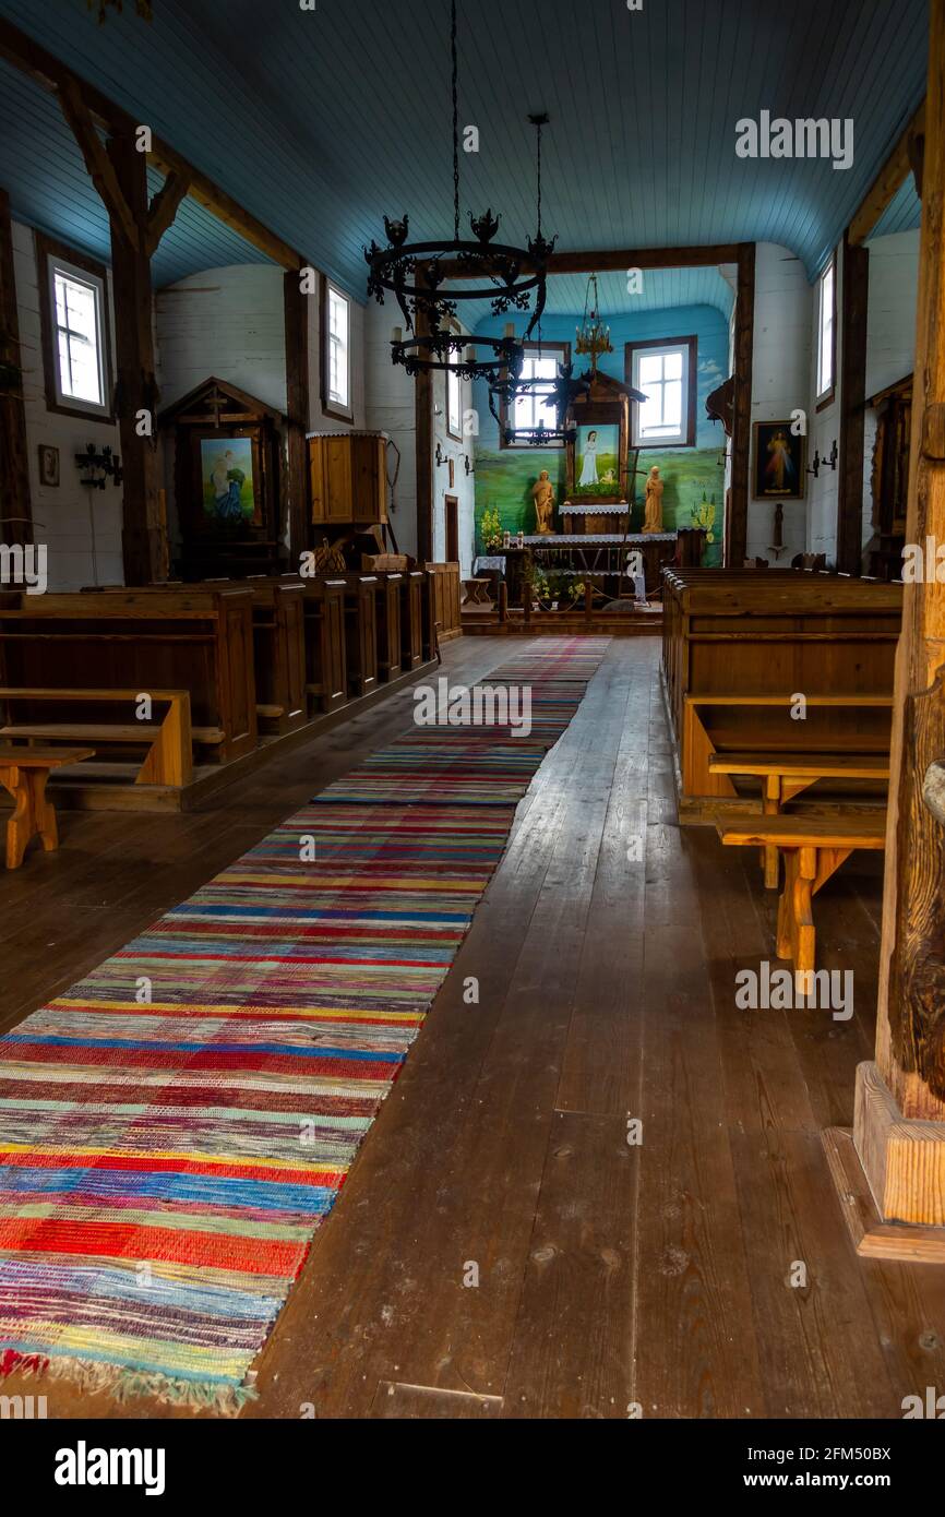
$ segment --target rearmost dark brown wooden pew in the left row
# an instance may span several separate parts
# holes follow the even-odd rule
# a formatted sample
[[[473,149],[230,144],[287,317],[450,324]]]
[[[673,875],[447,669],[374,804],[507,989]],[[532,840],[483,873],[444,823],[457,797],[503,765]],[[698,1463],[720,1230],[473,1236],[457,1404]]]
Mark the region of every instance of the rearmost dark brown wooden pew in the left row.
[[[252,592],[117,590],[0,598],[11,689],[190,690],[194,742],[224,763],[256,746]]]

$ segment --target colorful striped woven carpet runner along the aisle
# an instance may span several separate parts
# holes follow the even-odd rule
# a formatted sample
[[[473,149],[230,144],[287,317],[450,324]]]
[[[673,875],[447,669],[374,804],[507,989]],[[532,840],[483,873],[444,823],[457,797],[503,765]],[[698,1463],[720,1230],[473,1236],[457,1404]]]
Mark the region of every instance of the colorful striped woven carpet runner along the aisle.
[[[528,737],[411,728],[0,1039],[0,1377],[250,1394],[605,648],[531,645]]]

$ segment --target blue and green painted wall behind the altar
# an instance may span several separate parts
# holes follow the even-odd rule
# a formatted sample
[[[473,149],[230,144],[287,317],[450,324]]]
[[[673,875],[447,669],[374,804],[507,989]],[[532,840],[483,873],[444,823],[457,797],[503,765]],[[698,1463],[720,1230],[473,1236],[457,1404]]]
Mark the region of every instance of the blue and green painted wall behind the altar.
[[[704,563],[721,563],[724,529],[725,467],[722,463],[725,435],[717,422],[705,416],[705,397],[728,376],[728,323],[710,305],[673,306],[664,311],[642,311],[639,316],[610,319],[613,353],[601,358],[599,367],[616,379],[625,378],[625,343],[649,338],[698,337],[696,375],[696,444],[695,448],[642,448],[639,467],[649,470],[660,466],[666,484],[663,492],[663,523],[667,531],[693,525],[693,511],[702,501],[714,502],[714,522],[710,528],[713,542],[707,548]],[[485,320],[473,332],[502,334],[511,317]],[[549,343],[570,343],[575,373],[587,363],[573,352],[576,316],[548,316],[542,322],[542,337]],[[525,322],[517,319],[516,332]],[[534,335],[534,334],[532,334]],[[564,449],[508,449],[499,448],[499,428],[488,410],[488,394],[484,382],[473,387],[473,405],[479,417],[476,441],[476,548],[484,551],[481,539],[482,513],[499,511],[502,528],[511,532],[534,532],[534,505],[531,488],[542,469],[548,469],[555,485],[555,501],[564,499]],[[637,479],[631,528],[637,531],[643,522],[643,478]],[[555,528],[560,519],[555,511]]]

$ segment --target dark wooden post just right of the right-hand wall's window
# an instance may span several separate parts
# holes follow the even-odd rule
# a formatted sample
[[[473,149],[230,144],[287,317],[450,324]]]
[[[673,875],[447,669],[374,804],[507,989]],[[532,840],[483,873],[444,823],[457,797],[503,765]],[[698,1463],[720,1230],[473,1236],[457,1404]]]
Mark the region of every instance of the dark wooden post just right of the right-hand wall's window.
[[[866,423],[866,313],[869,250],[843,235],[840,326],[840,478],[837,481],[837,569],[859,575],[863,561],[863,438]]]

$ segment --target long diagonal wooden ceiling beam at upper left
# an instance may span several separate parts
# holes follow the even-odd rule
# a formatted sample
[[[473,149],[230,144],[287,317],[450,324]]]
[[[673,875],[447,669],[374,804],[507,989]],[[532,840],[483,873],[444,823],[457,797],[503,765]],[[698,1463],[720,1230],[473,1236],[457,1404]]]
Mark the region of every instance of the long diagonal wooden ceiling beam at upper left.
[[[143,123],[135,121],[127,111],[109,100],[108,96],[96,90],[85,79],[76,74],[67,64],[50,53],[46,47],[35,42],[26,32],[21,32],[18,26],[12,21],[0,18],[0,58],[12,64],[21,73],[29,74],[35,79],[44,90],[50,90],[55,94],[64,97],[64,91],[74,86],[79,91],[79,97],[85,111],[88,112],[91,121],[97,126],[105,127],[105,130],[117,135],[133,133]],[[74,99],[74,96],[73,96]],[[71,123],[70,123],[71,124]],[[96,133],[97,140],[97,133]],[[159,137],[152,133],[152,152],[147,155],[149,161],[164,173],[167,177],[177,174],[188,181],[187,193],[191,196],[197,205],[202,205],[205,211],[215,215],[218,221],[229,226],[234,232],[238,232],[244,241],[250,243],[267,258],[272,258],[275,264],[282,269],[303,269],[308,265],[309,259],[303,258],[294,247],[278,237],[275,232],[264,226],[250,211],[234,200],[220,185],[214,184],[206,174],[188,164],[181,153],[162,141]],[[99,185],[96,185],[99,188]],[[102,193],[102,191],[99,191]],[[103,196],[108,205],[106,197]],[[109,206],[111,209],[111,206]],[[170,225],[170,223],[168,223]]]

